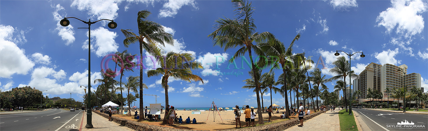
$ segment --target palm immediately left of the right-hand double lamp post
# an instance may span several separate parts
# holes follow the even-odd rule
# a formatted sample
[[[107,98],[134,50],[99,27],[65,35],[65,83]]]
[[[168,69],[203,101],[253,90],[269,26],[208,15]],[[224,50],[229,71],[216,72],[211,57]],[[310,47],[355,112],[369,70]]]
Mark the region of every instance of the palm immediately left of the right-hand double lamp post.
[[[333,76],[332,80],[342,79],[343,78],[343,87],[346,87],[346,76],[351,78],[357,78],[358,75],[354,73],[354,70],[349,69],[349,62],[346,60],[345,56],[338,57],[336,61],[333,62],[334,67],[330,69],[330,73],[335,73],[338,76]],[[343,94],[345,98],[346,94]],[[347,102],[345,101],[345,107]],[[345,108],[345,111],[348,111],[348,108]]]

